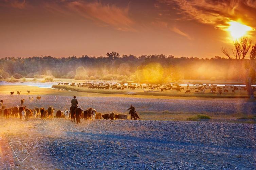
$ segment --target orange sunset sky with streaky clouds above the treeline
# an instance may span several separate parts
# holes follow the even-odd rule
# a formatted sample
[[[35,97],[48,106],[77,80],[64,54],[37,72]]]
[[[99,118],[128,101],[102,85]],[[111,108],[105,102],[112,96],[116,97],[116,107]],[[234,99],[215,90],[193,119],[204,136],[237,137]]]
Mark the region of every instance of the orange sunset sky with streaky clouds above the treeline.
[[[255,28],[255,0],[0,0],[0,57],[224,57]]]

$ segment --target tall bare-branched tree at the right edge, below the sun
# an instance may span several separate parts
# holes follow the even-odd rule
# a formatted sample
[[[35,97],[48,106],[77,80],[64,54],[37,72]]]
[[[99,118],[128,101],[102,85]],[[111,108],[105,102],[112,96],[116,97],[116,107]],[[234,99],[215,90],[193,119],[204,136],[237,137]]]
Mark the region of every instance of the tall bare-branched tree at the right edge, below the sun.
[[[251,99],[254,99],[254,91],[256,91],[256,89],[252,87],[252,82],[255,79],[255,74],[253,73],[255,72],[255,69],[254,71],[252,69],[254,68],[253,63],[255,62],[254,61],[252,62],[252,60],[255,59],[255,55],[256,55],[255,46],[253,46],[252,48],[252,51],[250,54],[251,62],[250,62],[250,65],[248,66],[245,64],[244,58],[252,46],[252,40],[248,40],[248,37],[242,37],[241,39],[234,41],[233,44],[234,44],[234,48],[232,49],[232,52],[235,59],[239,60],[239,65],[241,68],[240,74],[243,77],[244,82],[246,84],[248,95],[250,96]],[[227,48],[222,47],[221,51],[228,58],[230,59],[232,58]]]

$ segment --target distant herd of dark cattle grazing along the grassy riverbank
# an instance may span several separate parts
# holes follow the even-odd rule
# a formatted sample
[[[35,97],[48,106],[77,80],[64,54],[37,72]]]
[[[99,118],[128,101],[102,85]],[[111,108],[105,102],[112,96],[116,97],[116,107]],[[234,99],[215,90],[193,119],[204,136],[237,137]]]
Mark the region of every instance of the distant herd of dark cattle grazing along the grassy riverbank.
[[[59,83],[58,85],[69,85],[69,86],[73,86],[73,87],[85,87],[88,89],[105,89],[105,90],[125,90],[125,89],[143,89],[144,92],[147,92],[146,89],[149,90],[160,90],[161,92],[164,91],[168,91],[168,90],[174,90],[176,92],[181,92],[182,90],[184,90],[184,87],[180,86],[177,83],[173,83],[173,84],[135,84],[135,83]],[[189,84],[187,84],[186,86],[186,91],[185,93],[190,93],[191,91],[194,91],[196,93],[201,92],[201,93],[205,93],[206,89],[210,89],[211,93],[219,93],[222,94],[224,93],[235,93],[236,90],[244,90],[246,91],[246,87],[241,87],[241,86],[223,86],[223,87],[219,87],[217,85],[214,84],[193,84],[193,87],[190,87]]]

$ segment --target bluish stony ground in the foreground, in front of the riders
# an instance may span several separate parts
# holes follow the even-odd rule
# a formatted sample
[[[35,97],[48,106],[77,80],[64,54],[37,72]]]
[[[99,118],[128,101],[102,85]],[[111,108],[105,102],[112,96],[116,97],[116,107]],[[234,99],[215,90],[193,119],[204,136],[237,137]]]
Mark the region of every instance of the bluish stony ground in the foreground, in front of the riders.
[[[1,169],[255,169],[255,124],[0,119]],[[21,164],[8,142],[30,156]]]

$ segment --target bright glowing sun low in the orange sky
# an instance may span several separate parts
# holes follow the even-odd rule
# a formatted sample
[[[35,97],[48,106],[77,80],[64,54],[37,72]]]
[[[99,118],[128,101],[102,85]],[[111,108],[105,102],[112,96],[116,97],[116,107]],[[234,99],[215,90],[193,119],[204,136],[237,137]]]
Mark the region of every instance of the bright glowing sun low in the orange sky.
[[[231,21],[228,23],[230,24],[230,26],[228,27],[227,30],[230,32],[231,37],[235,40],[245,36],[248,33],[248,31],[252,30],[251,27],[236,21]]]

